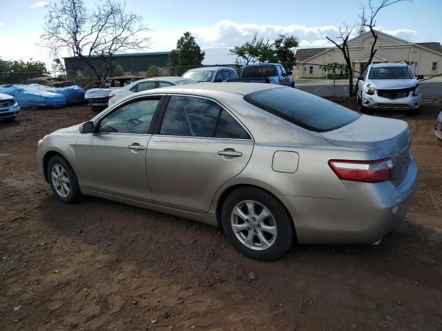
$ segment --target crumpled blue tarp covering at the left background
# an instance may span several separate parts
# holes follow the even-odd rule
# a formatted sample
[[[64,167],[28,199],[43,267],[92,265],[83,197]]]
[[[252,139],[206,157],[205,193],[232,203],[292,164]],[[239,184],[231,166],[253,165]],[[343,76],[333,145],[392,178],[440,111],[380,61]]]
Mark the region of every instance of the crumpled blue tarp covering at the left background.
[[[84,101],[84,90],[79,86],[51,88],[39,84],[0,87],[0,93],[12,95],[22,108],[63,107],[67,103]]]

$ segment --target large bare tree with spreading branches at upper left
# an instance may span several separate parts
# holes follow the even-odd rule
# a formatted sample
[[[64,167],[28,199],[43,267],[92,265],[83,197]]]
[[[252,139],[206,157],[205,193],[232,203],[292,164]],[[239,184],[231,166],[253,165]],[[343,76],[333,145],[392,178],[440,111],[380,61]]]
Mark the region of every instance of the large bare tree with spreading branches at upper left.
[[[97,79],[107,77],[115,67],[114,54],[149,46],[143,18],[127,12],[126,5],[117,0],[101,0],[93,10],[86,8],[83,0],[61,0],[47,8],[41,45],[50,48],[54,56],[68,52],[74,60],[80,59]]]

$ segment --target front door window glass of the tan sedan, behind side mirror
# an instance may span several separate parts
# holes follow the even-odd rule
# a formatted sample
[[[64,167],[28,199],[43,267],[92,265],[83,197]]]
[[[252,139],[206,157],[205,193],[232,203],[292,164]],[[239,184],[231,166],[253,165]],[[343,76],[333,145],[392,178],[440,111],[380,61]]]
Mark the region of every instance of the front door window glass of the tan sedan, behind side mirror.
[[[99,123],[99,132],[147,134],[160,98],[138,100],[117,108]]]

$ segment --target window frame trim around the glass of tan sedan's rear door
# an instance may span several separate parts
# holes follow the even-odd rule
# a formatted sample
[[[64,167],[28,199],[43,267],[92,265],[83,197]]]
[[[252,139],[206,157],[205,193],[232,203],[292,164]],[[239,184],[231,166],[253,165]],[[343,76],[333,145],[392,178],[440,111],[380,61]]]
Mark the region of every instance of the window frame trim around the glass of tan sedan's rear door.
[[[253,138],[253,135],[251,134],[249,129],[247,129],[247,127],[244,126],[244,124],[242,124],[242,122],[227,107],[225,107],[222,103],[220,103],[218,100],[211,99],[209,97],[203,97],[203,96],[200,96],[200,95],[193,95],[193,94],[166,94],[166,97],[164,98],[164,101],[162,101],[162,106],[160,108],[160,111],[158,111],[158,109],[155,111],[155,115],[157,115],[157,117],[155,117],[155,115],[153,116],[152,122],[155,120],[156,123],[155,123],[155,129],[153,130],[152,134],[155,134],[155,135],[158,135],[158,136],[169,136],[168,134],[160,134],[160,130],[161,130],[161,126],[162,126],[162,123],[163,123],[164,114],[166,113],[167,105],[169,104],[169,100],[171,99],[172,96],[206,99],[206,100],[209,100],[209,101],[213,101],[218,106],[220,106],[220,112],[218,112],[218,119],[216,119],[216,123],[215,123],[215,130],[214,130],[214,132],[212,134],[213,137],[193,137],[193,136],[176,136],[176,137],[196,138],[196,139],[224,139],[224,140],[255,141],[255,139]],[[245,132],[247,132],[247,134],[249,134],[249,137],[250,137],[249,139],[218,138],[218,137],[215,137],[215,133],[216,133],[216,130],[218,128],[218,122],[220,121],[221,113],[222,113],[223,110],[226,111],[231,117],[233,117],[233,119],[240,124],[240,126],[245,130]],[[150,128],[149,128],[149,130],[150,130]],[[173,136],[173,137],[175,137],[175,136]]]

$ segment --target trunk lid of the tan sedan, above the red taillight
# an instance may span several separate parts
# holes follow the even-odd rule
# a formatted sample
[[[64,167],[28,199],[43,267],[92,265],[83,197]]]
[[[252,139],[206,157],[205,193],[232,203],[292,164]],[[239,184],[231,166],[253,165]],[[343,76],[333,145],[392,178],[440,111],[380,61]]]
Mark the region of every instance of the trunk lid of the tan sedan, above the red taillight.
[[[361,116],[337,130],[321,135],[336,146],[368,148],[378,153],[381,159],[391,157],[396,177],[394,185],[400,184],[407,175],[411,159],[411,139],[408,124],[397,119]]]

